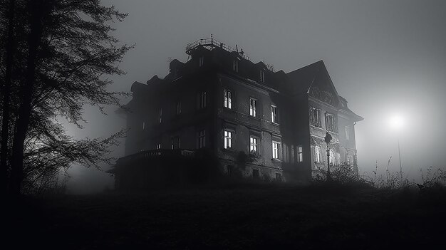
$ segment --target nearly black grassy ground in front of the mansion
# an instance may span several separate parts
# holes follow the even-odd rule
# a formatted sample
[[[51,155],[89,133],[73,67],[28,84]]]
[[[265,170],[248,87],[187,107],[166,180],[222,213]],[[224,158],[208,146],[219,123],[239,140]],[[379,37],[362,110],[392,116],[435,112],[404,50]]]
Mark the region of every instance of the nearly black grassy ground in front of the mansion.
[[[446,190],[247,184],[24,198],[14,249],[425,249],[445,246]]]

